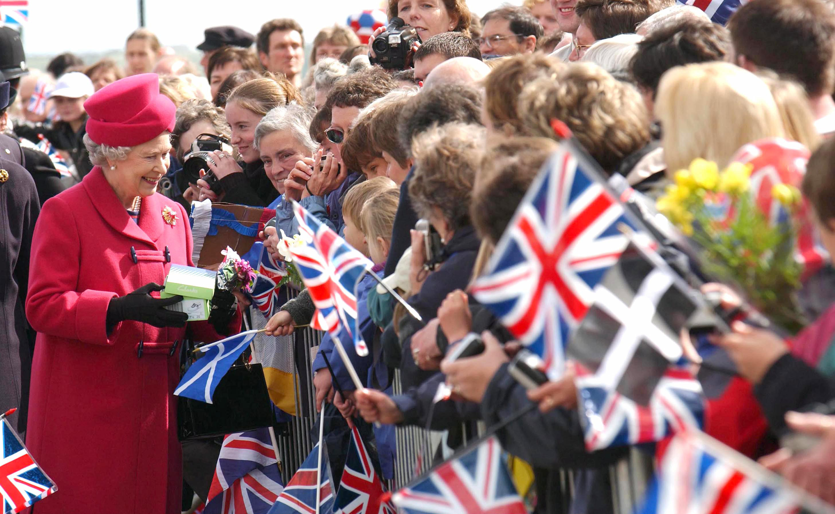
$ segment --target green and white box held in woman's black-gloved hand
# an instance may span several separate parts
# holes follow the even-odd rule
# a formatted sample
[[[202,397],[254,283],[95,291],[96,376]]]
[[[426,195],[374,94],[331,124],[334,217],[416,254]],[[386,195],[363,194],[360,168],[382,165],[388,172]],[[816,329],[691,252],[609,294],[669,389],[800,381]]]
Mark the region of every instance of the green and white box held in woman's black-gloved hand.
[[[169,310],[185,312],[189,321],[209,319],[211,299],[215,295],[215,271],[192,268],[183,265],[171,265],[165,277],[165,288],[159,293],[160,298],[181,295],[183,301],[170,305]]]

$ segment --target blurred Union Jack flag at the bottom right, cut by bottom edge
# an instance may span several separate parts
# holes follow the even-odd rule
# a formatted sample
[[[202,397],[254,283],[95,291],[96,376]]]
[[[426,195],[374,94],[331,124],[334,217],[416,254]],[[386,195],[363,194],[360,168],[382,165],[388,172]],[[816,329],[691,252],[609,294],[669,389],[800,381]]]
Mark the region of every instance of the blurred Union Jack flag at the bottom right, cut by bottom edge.
[[[706,437],[706,436],[704,436]],[[718,445],[720,443],[716,443]],[[667,446],[637,514],[786,514],[798,500],[780,479],[730,448],[721,453],[691,434]],[[735,454],[736,462],[728,456]],[[741,465],[744,462],[744,466]],[[751,472],[751,471],[759,472]]]

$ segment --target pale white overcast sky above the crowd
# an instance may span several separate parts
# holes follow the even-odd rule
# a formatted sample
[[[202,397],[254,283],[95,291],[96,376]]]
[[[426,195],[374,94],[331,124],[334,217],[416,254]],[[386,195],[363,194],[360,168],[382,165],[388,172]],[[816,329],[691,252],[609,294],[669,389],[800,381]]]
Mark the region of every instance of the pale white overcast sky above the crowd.
[[[345,23],[351,13],[374,8],[379,0],[145,0],[145,23],[166,46],[195,47],[203,29],[236,25],[257,33],[272,18],[296,18],[307,40],[322,27]],[[486,13],[502,0],[468,0],[474,13]],[[520,0],[509,3],[519,4]],[[28,54],[104,52],[123,48],[139,26],[136,0],[29,0],[23,31]]]

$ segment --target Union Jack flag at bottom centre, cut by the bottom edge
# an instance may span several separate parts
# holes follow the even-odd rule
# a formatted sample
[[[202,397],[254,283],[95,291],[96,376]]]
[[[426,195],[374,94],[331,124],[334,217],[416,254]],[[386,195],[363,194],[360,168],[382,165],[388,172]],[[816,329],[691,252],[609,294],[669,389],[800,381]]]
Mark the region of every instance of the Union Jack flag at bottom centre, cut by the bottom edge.
[[[527,514],[495,437],[451,461],[422,481],[397,491],[405,514]]]

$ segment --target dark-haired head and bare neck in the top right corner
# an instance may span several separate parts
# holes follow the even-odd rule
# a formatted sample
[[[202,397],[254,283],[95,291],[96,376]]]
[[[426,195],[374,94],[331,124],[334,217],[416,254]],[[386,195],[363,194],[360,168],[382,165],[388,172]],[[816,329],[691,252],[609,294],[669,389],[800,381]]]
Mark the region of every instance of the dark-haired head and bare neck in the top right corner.
[[[728,23],[736,63],[771,68],[806,88],[815,128],[835,133],[835,13],[819,0],[751,2]]]

